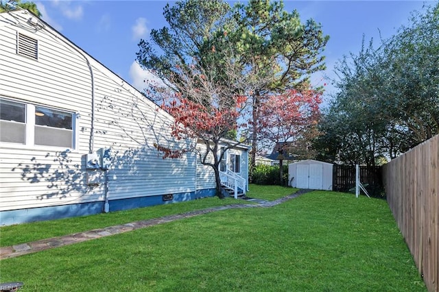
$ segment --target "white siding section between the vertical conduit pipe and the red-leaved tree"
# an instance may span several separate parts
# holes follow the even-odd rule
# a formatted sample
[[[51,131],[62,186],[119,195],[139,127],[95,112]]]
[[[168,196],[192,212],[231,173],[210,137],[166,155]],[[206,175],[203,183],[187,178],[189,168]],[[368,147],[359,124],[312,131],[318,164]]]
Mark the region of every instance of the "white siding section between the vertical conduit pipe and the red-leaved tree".
[[[177,147],[171,117],[115,77],[95,73],[95,148],[112,147],[109,199],[195,191],[195,156],[163,159],[154,147]]]

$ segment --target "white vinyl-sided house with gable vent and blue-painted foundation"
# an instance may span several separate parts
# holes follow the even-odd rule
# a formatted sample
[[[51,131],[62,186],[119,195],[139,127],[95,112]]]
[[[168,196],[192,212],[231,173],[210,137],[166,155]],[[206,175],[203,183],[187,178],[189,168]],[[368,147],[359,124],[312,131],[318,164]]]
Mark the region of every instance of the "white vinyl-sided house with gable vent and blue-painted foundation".
[[[0,225],[214,195],[195,154],[163,159],[154,147],[188,143],[167,112],[36,20],[0,13]]]

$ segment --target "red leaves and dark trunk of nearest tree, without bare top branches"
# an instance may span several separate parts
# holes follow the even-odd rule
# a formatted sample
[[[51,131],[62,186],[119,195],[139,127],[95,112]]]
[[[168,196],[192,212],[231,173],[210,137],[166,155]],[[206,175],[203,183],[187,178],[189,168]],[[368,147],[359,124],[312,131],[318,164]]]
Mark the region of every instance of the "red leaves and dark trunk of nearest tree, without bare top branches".
[[[223,197],[219,180],[219,163],[227,149],[240,144],[227,138],[230,132],[235,132],[239,127],[237,119],[245,102],[246,97],[236,95],[229,97],[229,106],[204,105],[176,94],[173,101],[162,106],[174,117],[171,135],[178,140],[191,139],[193,142],[183,149],[156,145],[157,149],[163,152],[163,158],[178,158],[188,151],[195,151],[201,164],[213,169],[216,194],[218,197]],[[224,144],[224,141],[228,143]]]

